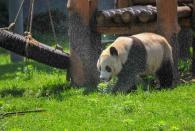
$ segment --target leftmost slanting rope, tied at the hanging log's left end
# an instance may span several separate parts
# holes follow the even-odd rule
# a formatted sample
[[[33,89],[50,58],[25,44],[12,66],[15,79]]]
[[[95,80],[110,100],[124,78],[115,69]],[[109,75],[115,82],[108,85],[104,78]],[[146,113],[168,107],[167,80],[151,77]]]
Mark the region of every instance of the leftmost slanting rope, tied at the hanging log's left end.
[[[22,0],[22,2],[21,2],[21,4],[20,4],[20,7],[19,7],[19,9],[18,9],[18,12],[17,12],[17,14],[16,14],[16,17],[15,17],[14,21],[13,21],[12,23],[10,23],[10,25],[9,25],[8,27],[0,28],[1,30],[2,30],[2,29],[3,29],[3,30],[12,30],[12,29],[15,28],[15,25],[16,25],[16,22],[17,22],[17,20],[18,20],[18,16],[19,16],[19,14],[20,14],[20,12],[21,12],[21,10],[22,10],[23,4],[24,4],[24,0]]]

